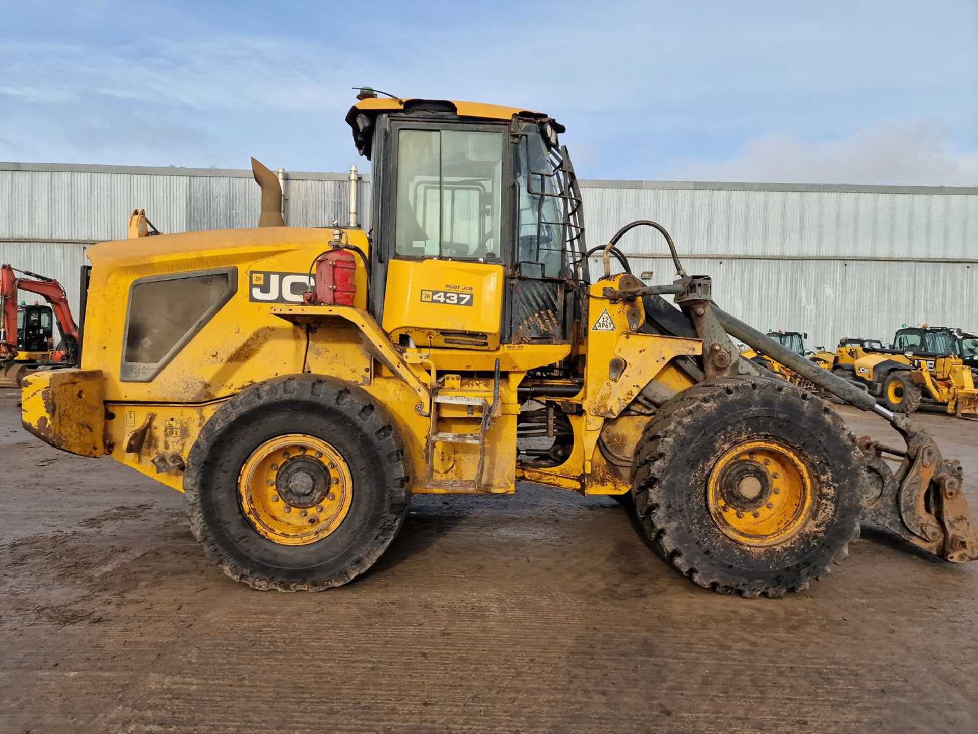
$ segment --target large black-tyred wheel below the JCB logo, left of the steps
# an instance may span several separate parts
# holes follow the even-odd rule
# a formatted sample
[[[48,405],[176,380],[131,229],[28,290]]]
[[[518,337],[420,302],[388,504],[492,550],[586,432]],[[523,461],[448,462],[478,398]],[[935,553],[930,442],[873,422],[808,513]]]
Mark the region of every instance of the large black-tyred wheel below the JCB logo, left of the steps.
[[[364,390],[311,375],[243,390],[207,421],[184,479],[191,529],[257,589],[317,591],[367,571],[404,523],[397,428]]]

